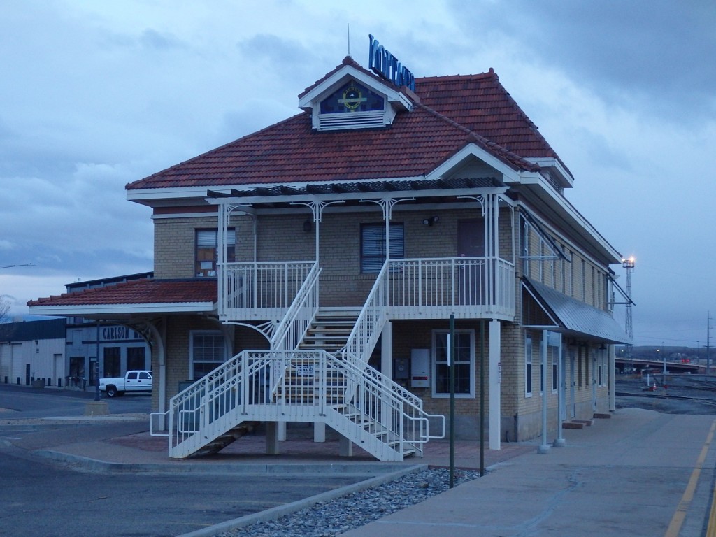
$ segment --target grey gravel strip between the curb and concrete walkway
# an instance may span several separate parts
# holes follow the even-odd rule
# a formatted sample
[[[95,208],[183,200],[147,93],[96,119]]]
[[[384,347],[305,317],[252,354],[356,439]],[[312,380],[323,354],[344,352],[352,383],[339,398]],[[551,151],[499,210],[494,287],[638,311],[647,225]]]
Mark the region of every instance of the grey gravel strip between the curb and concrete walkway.
[[[455,485],[480,473],[455,470]],[[390,483],[342,496],[274,521],[236,528],[220,537],[333,537],[415,505],[449,489],[447,469],[410,473]]]

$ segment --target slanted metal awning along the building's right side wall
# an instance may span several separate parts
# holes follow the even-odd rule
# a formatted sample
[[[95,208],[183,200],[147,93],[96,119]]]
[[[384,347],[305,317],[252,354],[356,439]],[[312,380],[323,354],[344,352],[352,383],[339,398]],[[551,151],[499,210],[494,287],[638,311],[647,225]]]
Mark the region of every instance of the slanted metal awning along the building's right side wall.
[[[533,279],[523,277],[522,281],[533,299],[563,332],[584,334],[606,343],[630,343],[627,333],[606,311],[584,304]]]

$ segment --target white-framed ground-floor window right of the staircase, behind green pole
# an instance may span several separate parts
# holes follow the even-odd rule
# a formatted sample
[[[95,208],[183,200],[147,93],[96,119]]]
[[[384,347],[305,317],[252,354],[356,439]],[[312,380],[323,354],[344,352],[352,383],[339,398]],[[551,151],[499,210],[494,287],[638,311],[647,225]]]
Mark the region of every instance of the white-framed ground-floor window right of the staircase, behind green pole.
[[[448,330],[432,331],[432,395],[450,395]],[[475,331],[455,330],[455,397],[475,397]]]

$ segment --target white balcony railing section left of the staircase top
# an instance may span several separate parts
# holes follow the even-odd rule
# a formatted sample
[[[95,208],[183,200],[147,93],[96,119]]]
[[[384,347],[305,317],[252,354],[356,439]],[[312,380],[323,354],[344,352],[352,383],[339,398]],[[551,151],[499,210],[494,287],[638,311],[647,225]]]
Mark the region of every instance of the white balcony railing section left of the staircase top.
[[[314,265],[315,261],[220,264],[219,318],[281,319]]]

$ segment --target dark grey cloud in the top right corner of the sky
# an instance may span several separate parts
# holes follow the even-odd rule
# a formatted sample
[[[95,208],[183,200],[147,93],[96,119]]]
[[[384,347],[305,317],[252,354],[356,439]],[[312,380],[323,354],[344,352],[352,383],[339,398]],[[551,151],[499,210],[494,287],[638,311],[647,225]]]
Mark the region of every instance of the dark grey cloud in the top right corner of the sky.
[[[458,9],[455,4],[455,9]],[[716,116],[716,4],[669,0],[460,3],[464,26],[480,20],[515,40],[526,59],[558,67],[610,103],[672,122]],[[701,106],[708,105],[706,110]]]

